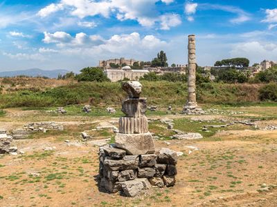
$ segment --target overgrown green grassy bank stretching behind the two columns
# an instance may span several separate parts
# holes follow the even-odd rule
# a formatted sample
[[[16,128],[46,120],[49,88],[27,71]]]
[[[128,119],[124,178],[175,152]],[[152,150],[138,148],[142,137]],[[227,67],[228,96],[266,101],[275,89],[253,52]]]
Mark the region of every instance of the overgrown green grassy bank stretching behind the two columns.
[[[148,106],[181,107],[186,102],[187,84],[169,81],[141,81]],[[199,103],[238,104],[260,103],[257,84],[203,83],[197,86]],[[41,90],[19,90],[0,95],[0,108],[23,107],[44,110],[44,107],[83,105],[105,108],[118,107],[126,98],[120,83],[71,83],[67,86]],[[267,103],[269,104],[269,103]],[[69,112],[74,112],[75,109]],[[76,112],[76,111],[75,111]],[[74,113],[75,113],[74,112]],[[78,113],[81,113],[78,108]],[[153,114],[159,112],[153,112]],[[92,113],[93,114],[93,113]]]

